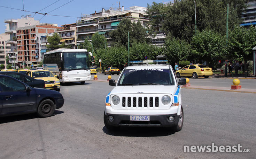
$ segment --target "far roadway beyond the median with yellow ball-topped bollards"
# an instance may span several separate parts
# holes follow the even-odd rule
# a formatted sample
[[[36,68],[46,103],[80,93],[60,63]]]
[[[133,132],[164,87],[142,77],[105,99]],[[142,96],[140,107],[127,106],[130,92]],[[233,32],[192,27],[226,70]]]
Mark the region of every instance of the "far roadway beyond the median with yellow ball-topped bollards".
[[[93,76],[94,74],[92,74],[92,79],[93,79]],[[97,74],[97,76],[98,76],[98,79],[107,81],[109,75]],[[111,75],[111,79],[114,79],[115,81],[117,81],[119,76],[120,75],[117,75],[117,74]],[[242,86],[242,89],[243,88],[256,89],[256,79],[239,79],[239,80],[240,80],[240,85]],[[191,86],[210,86],[210,87],[230,88],[231,85],[233,85],[232,81],[233,79],[231,78],[204,78],[204,77],[200,77],[196,79],[189,78],[189,83],[191,84]]]

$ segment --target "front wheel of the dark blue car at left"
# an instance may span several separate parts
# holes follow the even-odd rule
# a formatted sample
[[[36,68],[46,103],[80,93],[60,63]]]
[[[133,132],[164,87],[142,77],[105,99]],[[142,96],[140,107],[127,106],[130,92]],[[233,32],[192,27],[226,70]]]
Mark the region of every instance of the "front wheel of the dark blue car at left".
[[[37,115],[40,117],[49,117],[52,116],[55,111],[55,104],[51,99],[43,100],[38,108],[37,108]]]

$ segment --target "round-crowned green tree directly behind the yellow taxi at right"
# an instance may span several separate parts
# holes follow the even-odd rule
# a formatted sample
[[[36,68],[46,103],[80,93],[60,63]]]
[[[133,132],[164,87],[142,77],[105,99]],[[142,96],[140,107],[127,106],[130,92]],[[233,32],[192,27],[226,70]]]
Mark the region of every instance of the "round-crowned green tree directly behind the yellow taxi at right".
[[[193,52],[191,57],[206,61],[207,65],[213,67],[226,54],[225,37],[214,30],[203,30],[192,37],[191,46]]]

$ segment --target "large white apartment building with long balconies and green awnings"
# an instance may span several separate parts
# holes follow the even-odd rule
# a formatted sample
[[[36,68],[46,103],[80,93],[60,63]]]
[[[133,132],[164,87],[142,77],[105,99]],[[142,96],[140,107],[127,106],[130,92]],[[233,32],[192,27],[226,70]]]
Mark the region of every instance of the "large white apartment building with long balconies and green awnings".
[[[146,18],[146,7],[133,6],[129,9],[124,7],[118,10],[105,10],[101,12],[94,12],[90,15],[85,15],[81,20],[77,21],[77,42],[84,42],[85,39],[89,41],[95,32],[104,35],[107,39],[110,38],[111,30],[117,28],[117,25],[123,18],[129,18],[133,22],[141,21],[141,25],[145,25],[148,18]]]

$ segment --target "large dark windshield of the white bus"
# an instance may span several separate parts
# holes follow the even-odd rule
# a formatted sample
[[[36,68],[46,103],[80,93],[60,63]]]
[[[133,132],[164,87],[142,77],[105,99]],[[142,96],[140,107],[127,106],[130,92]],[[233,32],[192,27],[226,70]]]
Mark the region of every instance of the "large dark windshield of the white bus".
[[[89,69],[87,52],[63,52],[63,70]]]

